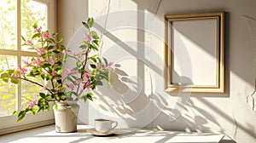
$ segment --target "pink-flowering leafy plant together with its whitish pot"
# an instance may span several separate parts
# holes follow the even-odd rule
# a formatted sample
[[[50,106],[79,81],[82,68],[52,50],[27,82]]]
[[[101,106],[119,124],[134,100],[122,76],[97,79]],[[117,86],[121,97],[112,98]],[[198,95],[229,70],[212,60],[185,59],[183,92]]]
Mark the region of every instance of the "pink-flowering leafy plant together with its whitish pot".
[[[22,120],[27,112],[35,114],[40,111],[49,111],[49,102],[54,101],[56,131],[76,131],[77,118],[69,114],[77,117],[78,112],[73,112],[71,107],[78,109],[79,106],[68,105],[67,100],[84,100],[84,102],[93,100],[91,91],[96,89],[96,86],[102,85],[103,80],[108,81],[108,67],[112,66],[111,62],[108,63],[108,60],[95,54],[99,48],[100,38],[96,31],[90,29],[94,25],[93,18],[83,21],[82,24],[88,29],[88,33],[84,34],[84,41],[79,51],[67,49],[61,44],[62,38],[55,41],[57,34],[50,35],[49,31],[42,31],[42,27],[37,23],[32,26],[34,28],[32,38],[27,40],[22,37],[24,45],[38,52],[38,57],[23,60],[25,66],[17,66],[17,69],[2,70],[1,78],[4,82],[15,84],[24,80],[44,88],[45,92],[40,92],[37,100],[32,100],[24,109],[13,113],[18,115],[17,122]],[[62,69],[68,58],[73,59],[76,66],[72,69]],[[41,78],[45,84],[33,81],[30,77]],[[66,119],[57,121],[57,116],[66,117]],[[74,124],[75,127],[72,129],[60,127],[61,124],[64,126],[68,124],[59,123],[62,121]]]

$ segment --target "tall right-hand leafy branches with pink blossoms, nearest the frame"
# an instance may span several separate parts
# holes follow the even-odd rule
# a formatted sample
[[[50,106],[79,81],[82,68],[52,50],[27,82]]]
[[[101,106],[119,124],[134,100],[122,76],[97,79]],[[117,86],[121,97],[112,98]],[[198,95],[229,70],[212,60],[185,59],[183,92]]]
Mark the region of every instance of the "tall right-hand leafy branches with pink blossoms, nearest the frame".
[[[108,68],[113,63],[108,63],[105,58],[101,59],[98,54],[94,54],[97,53],[100,43],[96,31],[90,29],[94,25],[94,20],[90,18],[82,24],[89,32],[84,34],[84,41],[80,45],[79,51],[67,51],[68,57],[76,61],[76,66],[66,70],[67,80],[65,79],[65,83],[69,88],[69,91],[66,92],[67,98],[82,99],[85,102],[93,100],[91,90],[102,85],[103,80],[108,81]]]

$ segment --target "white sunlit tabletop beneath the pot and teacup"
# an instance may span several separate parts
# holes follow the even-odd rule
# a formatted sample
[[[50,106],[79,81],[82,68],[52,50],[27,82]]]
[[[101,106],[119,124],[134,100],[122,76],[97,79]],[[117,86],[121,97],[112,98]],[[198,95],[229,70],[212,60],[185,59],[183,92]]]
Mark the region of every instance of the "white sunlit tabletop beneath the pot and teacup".
[[[98,137],[91,134],[92,127],[79,125],[78,132],[75,133],[56,133],[55,125],[29,129],[13,134],[0,136],[0,142],[16,143],[96,143],[96,142],[114,142],[114,143],[190,143],[190,142],[219,142],[224,134],[206,134],[206,133],[184,133],[176,131],[160,131],[149,129],[114,129],[112,136]]]

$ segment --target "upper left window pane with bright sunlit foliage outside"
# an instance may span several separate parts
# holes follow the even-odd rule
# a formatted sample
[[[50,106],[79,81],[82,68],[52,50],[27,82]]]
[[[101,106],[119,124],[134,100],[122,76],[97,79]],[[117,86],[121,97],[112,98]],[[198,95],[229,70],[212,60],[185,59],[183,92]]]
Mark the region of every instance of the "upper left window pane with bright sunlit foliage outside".
[[[16,0],[0,1],[0,49],[17,49]]]

